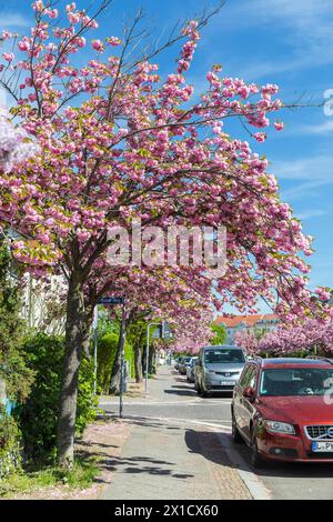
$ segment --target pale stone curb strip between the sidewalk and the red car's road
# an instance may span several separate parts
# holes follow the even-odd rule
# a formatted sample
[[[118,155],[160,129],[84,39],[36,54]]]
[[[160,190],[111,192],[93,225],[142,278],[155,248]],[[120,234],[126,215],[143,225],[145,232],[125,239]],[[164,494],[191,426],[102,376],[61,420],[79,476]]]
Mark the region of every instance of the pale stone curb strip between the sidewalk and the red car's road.
[[[233,448],[232,441],[226,433],[219,433],[214,430],[221,444],[226,449],[228,455],[233,464],[238,468],[236,471],[250,491],[253,500],[272,500],[269,490],[264,486],[258,475],[251,470],[249,464],[242,455]]]

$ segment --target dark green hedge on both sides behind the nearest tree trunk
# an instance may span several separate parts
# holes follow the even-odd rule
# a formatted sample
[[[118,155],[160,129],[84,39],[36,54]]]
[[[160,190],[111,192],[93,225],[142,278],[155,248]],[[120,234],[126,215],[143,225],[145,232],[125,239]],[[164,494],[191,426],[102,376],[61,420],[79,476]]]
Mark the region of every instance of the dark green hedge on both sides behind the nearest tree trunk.
[[[56,458],[57,422],[61,387],[64,340],[37,334],[24,341],[28,365],[34,382],[28,400],[18,411],[28,461],[53,461]],[[83,359],[79,373],[77,434],[93,421],[98,399],[93,396],[93,361]]]

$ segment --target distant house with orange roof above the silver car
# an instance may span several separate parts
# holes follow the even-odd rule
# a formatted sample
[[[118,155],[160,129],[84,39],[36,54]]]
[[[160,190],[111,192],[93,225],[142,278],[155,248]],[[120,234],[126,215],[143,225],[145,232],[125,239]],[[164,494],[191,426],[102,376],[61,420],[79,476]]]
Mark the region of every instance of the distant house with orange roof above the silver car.
[[[228,343],[233,344],[234,335],[241,330],[254,330],[258,333],[266,333],[275,330],[279,325],[279,318],[274,313],[258,315],[234,315],[233,318],[220,317],[215,324],[223,324],[226,330]]]

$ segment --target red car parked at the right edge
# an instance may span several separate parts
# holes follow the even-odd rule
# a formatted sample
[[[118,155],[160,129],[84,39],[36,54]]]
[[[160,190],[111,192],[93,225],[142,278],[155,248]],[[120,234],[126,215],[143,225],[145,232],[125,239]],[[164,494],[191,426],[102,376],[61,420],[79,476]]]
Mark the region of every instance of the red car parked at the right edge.
[[[233,391],[232,436],[266,459],[333,462],[333,361],[254,359]]]

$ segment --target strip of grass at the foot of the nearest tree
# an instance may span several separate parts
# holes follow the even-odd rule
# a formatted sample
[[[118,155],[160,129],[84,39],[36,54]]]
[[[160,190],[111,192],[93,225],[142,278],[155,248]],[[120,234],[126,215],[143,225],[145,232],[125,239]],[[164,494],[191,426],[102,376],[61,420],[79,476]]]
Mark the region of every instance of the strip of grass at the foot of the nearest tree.
[[[97,459],[78,458],[70,471],[59,468],[44,468],[34,471],[20,471],[0,481],[0,496],[16,493],[29,493],[37,489],[67,484],[70,488],[84,489],[93,483],[99,473]]]

